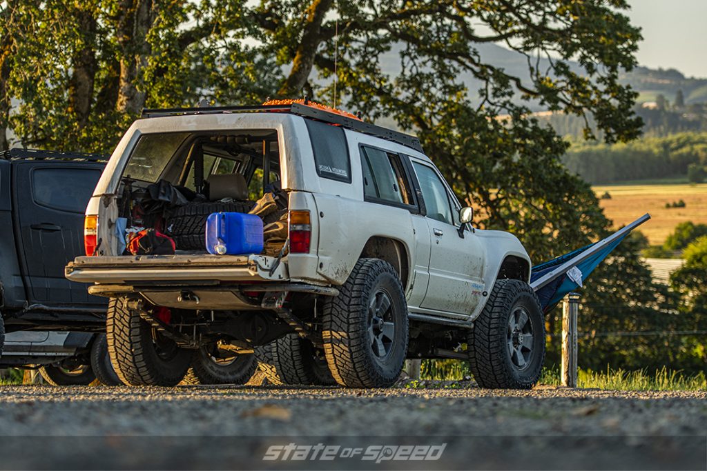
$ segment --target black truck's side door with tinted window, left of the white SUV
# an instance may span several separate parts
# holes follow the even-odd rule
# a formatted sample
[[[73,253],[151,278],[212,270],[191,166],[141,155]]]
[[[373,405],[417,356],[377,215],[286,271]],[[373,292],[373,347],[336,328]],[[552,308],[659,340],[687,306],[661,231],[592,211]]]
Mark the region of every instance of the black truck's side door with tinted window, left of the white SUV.
[[[16,239],[30,302],[100,304],[86,285],[64,278],[64,266],[83,255],[83,215],[100,165],[14,162]]]

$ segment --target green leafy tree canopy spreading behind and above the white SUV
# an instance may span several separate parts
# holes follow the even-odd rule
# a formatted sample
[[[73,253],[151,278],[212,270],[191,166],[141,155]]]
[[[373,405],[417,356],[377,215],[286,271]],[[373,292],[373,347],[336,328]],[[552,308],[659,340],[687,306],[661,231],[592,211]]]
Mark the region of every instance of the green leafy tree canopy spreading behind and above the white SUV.
[[[10,120],[25,145],[107,152],[144,106],[329,101],[335,75],[341,104],[417,133],[479,208],[477,224],[512,230],[540,258],[595,239],[607,220],[561,165],[566,144],[513,97],[592,117],[608,142],[641,126],[636,93],[618,81],[636,64],[640,39],[623,0],[3,5],[23,23],[8,83],[22,103]],[[527,73],[485,60],[477,45],[489,42],[526,59]],[[382,68],[391,61],[392,75]],[[483,87],[467,90],[464,77]]]

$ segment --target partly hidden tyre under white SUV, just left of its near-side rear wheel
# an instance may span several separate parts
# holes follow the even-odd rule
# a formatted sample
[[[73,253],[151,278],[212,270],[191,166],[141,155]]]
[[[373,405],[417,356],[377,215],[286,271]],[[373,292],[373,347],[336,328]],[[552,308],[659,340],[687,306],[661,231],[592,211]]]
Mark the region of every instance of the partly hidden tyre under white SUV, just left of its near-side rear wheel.
[[[296,333],[255,347],[255,357],[271,384],[336,384],[321,352],[317,354],[312,342]]]

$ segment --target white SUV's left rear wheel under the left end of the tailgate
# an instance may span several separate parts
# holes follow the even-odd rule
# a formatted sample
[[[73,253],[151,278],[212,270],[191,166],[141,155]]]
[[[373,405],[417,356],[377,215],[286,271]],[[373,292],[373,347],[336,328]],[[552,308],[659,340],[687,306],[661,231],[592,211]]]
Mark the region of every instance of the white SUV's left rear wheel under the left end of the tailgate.
[[[106,338],[113,369],[131,386],[175,386],[192,362],[192,350],[152,328],[124,298],[108,304]]]

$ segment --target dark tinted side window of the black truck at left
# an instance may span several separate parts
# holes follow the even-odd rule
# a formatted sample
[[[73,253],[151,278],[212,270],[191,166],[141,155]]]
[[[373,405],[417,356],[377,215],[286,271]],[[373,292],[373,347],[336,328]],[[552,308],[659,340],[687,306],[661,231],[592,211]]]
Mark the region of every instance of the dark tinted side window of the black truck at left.
[[[32,197],[35,203],[68,213],[83,214],[100,179],[100,170],[35,169]]]

